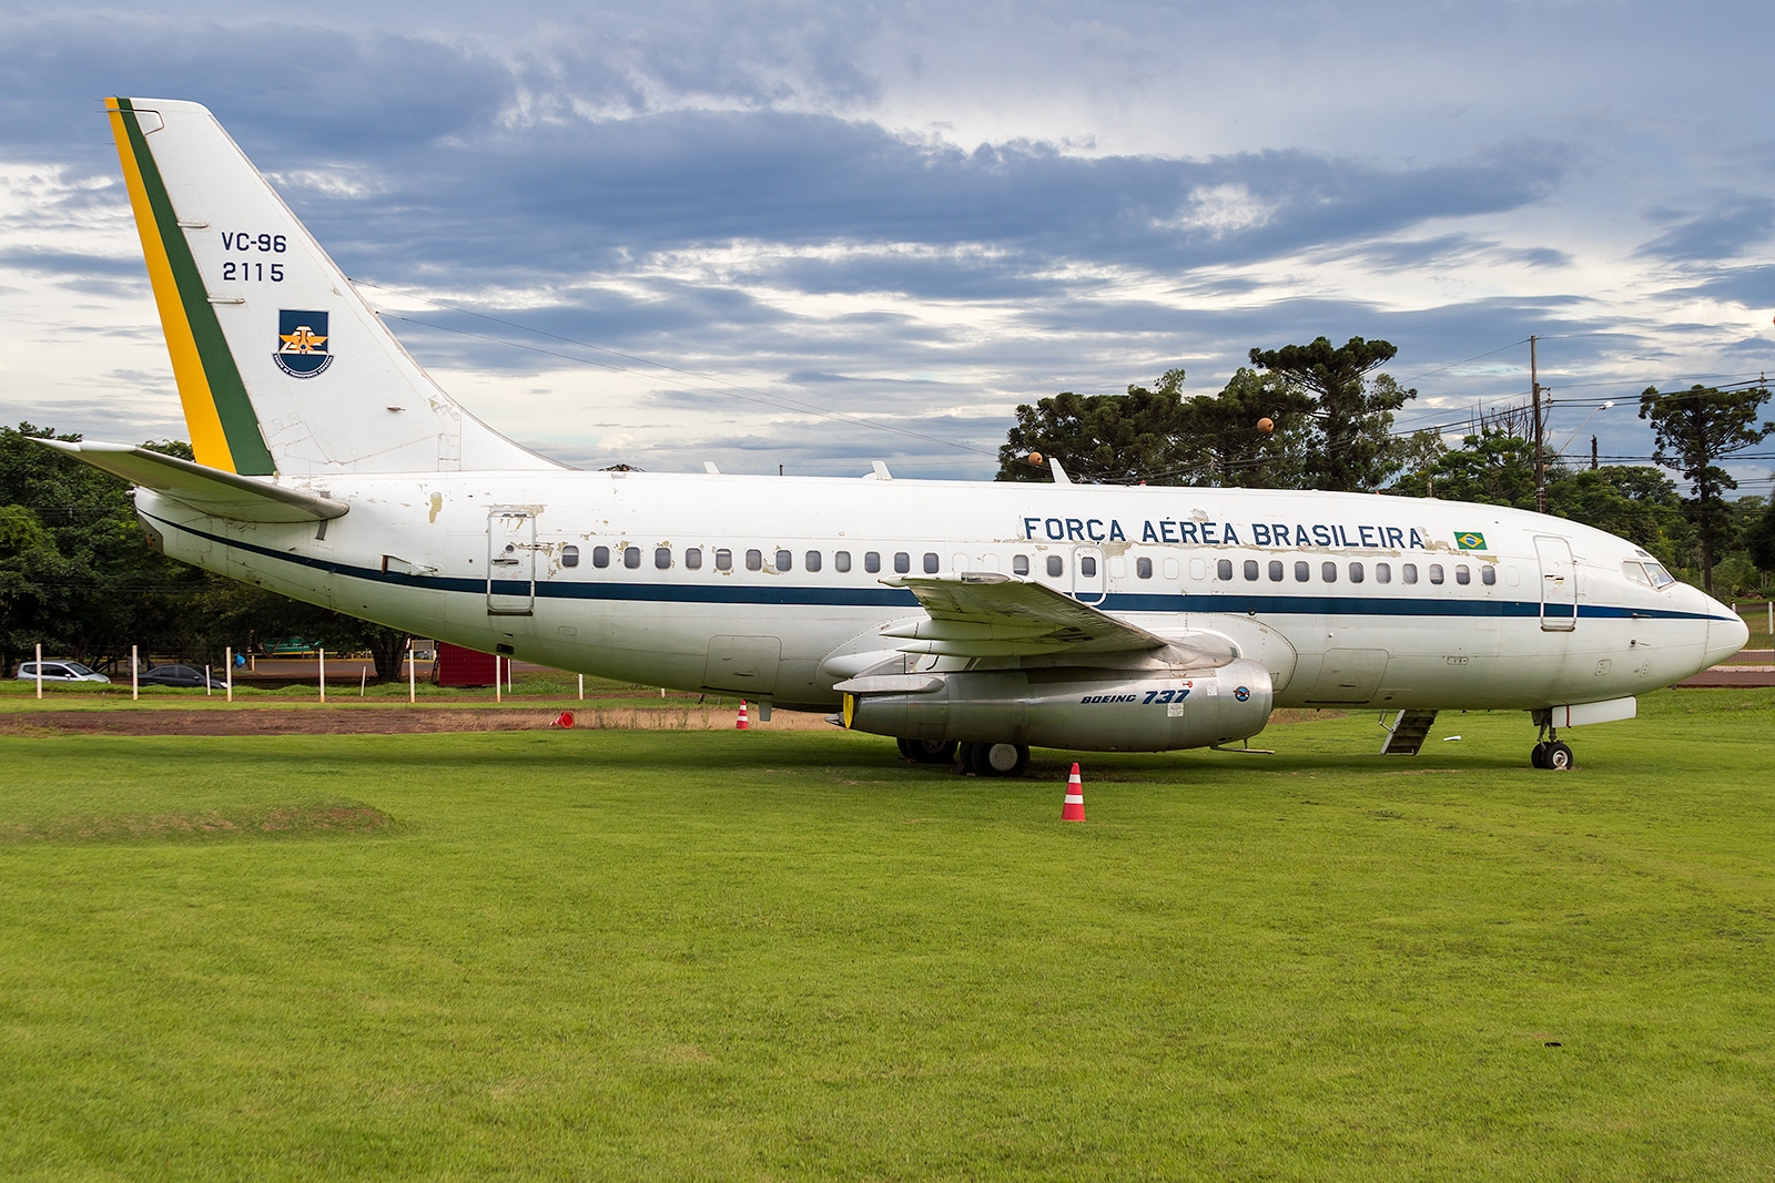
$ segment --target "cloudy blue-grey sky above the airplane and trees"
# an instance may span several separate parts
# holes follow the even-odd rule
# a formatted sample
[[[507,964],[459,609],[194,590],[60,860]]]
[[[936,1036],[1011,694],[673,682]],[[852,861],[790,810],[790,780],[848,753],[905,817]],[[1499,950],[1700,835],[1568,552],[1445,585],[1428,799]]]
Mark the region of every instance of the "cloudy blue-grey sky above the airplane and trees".
[[[1645,385],[1775,369],[1770,44],[1766,0],[0,4],[0,415],[186,435],[126,94],[577,465],[983,477],[1019,403],[1321,333],[1399,346],[1404,426],[1525,397],[1537,333],[1553,442],[1645,454]]]

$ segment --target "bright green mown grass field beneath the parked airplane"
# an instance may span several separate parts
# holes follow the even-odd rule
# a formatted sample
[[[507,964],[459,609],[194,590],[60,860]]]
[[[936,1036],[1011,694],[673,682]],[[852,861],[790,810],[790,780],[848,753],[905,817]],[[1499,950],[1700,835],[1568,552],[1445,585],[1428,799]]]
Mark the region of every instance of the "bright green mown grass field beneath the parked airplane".
[[[1771,722],[0,736],[0,1172],[1766,1179]]]

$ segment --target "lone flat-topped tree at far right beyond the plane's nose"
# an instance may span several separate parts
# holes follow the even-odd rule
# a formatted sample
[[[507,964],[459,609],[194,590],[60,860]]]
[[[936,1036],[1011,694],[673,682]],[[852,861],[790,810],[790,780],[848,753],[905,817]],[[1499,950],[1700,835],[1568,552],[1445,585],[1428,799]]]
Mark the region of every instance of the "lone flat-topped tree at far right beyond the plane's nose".
[[[1713,559],[1732,541],[1732,514],[1725,491],[1738,482],[1718,461],[1761,443],[1775,433],[1775,422],[1757,424],[1757,411],[1768,403],[1768,387],[1720,390],[1695,385],[1688,390],[1660,394],[1645,387],[1640,394],[1640,419],[1651,420],[1656,449],[1653,461],[1676,468],[1690,482],[1692,495],[1683,509],[1695,525],[1700,548],[1700,584],[1713,594]]]

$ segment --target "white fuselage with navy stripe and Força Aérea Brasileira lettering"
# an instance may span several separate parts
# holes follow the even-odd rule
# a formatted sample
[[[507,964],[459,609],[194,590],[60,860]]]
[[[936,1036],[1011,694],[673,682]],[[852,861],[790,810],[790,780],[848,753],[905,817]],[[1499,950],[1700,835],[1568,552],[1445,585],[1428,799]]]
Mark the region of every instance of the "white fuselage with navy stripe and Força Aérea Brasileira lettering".
[[[137,507],[169,555],[298,599],[781,704],[832,706],[834,683],[907,646],[880,635],[923,615],[882,584],[896,555],[903,573],[943,576],[1026,562],[1028,578],[1161,637],[1225,637],[1269,667],[1278,706],[1596,702],[1668,685],[1745,637],[1688,585],[1629,580],[1622,564],[1647,557],[1631,543],[1495,505],[566,470],[295,484],[351,509],[320,530],[208,518],[146,490]]]

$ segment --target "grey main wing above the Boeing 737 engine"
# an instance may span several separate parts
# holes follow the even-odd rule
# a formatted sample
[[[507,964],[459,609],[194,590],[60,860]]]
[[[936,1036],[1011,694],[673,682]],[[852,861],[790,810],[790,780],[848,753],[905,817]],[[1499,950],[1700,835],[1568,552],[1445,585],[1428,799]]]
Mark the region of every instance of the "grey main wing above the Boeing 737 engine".
[[[1038,653],[1138,653],[1172,644],[1053,587],[1008,575],[895,578],[882,584],[903,587],[918,596],[918,603],[930,617],[882,630],[884,637],[914,642],[900,646],[907,653],[989,658]]]

